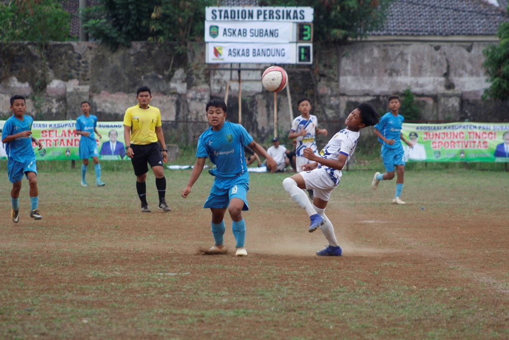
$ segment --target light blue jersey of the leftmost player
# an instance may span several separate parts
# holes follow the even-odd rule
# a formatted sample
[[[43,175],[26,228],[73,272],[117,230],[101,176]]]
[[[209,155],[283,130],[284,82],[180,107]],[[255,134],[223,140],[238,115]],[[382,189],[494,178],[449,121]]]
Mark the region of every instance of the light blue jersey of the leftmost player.
[[[2,139],[7,136],[19,134],[23,131],[31,131],[34,118],[23,116],[23,121],[11,116],[6,120],[3,130]],[[16,162],[24,163],[28,160],[35,160],[35,152],[32,147],[32,136],[18,137],[15,140],[5,144],[7,158]]]

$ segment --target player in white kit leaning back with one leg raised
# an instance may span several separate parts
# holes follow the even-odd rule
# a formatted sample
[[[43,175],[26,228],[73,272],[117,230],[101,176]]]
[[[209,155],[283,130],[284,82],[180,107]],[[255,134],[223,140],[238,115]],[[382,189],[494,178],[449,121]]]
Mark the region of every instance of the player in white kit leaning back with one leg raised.
[[[378,123],[380,115],[370,103],[360,103],[347,117],[347,127],[336,133],[327,145],[316,155],[311,148],[305,148],[304,156],[313,163],[304,164],[303,172],[286,178],[283,187],[307,213],[310,219],[309,232],[320,228],[329,242],[327,248],[317,251],[317,255],[341,256],[343,250],[337,243],[334,227],[325,216],[325,208],[331,192],[341,179],[341,169],[355,151],[359,130]],[[314,189],[313,203],[309,202],[302,189]]]

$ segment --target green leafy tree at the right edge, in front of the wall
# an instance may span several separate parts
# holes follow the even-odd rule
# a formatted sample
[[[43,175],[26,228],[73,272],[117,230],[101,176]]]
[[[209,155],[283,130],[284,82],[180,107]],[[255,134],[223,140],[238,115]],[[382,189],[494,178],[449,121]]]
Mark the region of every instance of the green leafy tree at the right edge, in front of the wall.
[[[509,12],[509,6],[507,6]],[[489,44],[483,49],[486,57],[483,67],[486,69],[490,87],[484,90],[483,99],[509,99],[509,22],[501,22],[496,34],[498,45]]]

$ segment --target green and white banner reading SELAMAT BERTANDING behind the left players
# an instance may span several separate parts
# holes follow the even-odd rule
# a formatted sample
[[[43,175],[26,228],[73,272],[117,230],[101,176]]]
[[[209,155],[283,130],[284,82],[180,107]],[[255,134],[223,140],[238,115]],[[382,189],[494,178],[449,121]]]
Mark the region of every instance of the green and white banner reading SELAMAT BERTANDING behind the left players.
[[[0,120],[3,128],[5,120]],[[37,160],[78,160],[79,135],[75,120],[34,121],[32,136],[42,143],[42,149],[34,151]],[[100,160],[128,160],[125,155],[123,122],[97,122],[97,151]],[[0,159],[6,159],[4,145],[0,145]]]

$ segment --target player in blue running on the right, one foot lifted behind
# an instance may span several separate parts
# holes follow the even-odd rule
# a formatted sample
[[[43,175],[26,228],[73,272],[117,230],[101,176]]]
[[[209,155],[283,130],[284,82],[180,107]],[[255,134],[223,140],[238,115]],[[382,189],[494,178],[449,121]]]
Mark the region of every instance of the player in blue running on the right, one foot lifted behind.
[[[405,142],[409,147],[412,143],[407,141],[401,133],[401,127],[405,118],[398,114],[401,107],[400,96],[389,96],[389,109],[385,115],[380,118],[378,124],[375,125],[375,136],[382,143],[382,161],[386,172],[381,174],[376,172],[371,182],[371,188],[376,190],[381,180],[389,180],[394,178],[394,168],[398,174],[396,179],[396,193],[392,199],[394,204],[405,204],[401,200],[401,192],[403,190],[403,176],[405,174],[405,150],[401,141]]]

